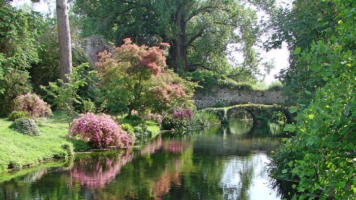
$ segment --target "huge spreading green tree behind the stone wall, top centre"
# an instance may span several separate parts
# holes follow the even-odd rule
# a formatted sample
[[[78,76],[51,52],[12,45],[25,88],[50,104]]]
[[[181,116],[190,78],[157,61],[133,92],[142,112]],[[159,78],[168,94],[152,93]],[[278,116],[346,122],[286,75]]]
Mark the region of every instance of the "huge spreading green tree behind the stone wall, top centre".
[[[235,50],[244,54],[241,65],[257,67],[257,17],[243,1],[76,0],[74,5],[86,18],[87,35],[103,35],[116,45],[127,37],[139,45],[168,42],[168,64],[175,71],[226,71],[226,55]]]

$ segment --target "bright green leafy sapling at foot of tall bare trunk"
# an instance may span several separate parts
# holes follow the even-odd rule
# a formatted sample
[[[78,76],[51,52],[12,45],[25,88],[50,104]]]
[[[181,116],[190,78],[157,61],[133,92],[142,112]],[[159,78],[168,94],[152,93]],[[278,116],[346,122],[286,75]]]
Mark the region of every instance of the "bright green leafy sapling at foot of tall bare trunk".
[[[71,113],[74,111],[73,103],[81,103],[81,98],[77,92],[80,87],[86,84],[87,77],[82,76],[83,70],[86,67],[88,67],[88,63],[74,67],[73,72],[66,75],[70,80],[68,83],[64,83],[62,79],[58,79],[59,85],[57,82],[49,82],[47,87],[41,85],[41,89],[46,91],[48,96],[54,97],[53,104],[67,112],[69,126]],[[88,76],[94,73],[96,71],[91,71]]]

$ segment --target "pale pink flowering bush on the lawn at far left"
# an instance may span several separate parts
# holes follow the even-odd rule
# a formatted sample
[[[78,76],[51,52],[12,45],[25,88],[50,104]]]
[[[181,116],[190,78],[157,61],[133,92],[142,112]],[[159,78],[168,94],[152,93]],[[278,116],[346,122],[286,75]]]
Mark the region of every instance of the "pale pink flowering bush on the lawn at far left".
[[[52,115],[50,106],[38,95],[27,93],[20,95],[14,100],[14,110],[26,111],[32,118],[43,118],[45,114]]]

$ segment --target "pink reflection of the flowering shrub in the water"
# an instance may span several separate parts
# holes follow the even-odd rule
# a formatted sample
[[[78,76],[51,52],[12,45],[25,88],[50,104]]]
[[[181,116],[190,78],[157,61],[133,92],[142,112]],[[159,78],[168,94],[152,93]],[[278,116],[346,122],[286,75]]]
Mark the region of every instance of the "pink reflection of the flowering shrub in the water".
[[[104,188],[105,184],[113,181],[115,176],[120,173],[121,167],[125,166],[127,162],[131,162],[133,157],[134,153],[128,151],[124,155],[114,158],[99,156],[99,158],[93,159],[88,157],[78,160],[69,173],[74,182],[88,188]]]

